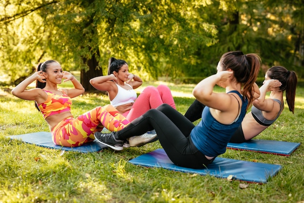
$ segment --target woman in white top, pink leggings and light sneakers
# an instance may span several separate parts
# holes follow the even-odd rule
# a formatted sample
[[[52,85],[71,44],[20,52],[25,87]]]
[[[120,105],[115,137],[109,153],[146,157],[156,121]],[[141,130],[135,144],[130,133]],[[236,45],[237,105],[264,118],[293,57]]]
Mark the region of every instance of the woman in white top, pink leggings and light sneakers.
[[[166,85],[148,86],[137,97],[134,89],[142,85],[142,80],[138,75],[129,73],[129,66],[125,60],[111,57],[108,75],[94,77],[90,83],[97,90],[108,92],[111,105],[129,121],[164,103],[176,109],[171,91]],[[142,143],[135,139],[147,139],[151,142],[157,140],[156,136],[155,133],[145,133],[142,136],[132,137],[129,139],[130,146],[134,147],[138,146],[137,143]],[[124,146],[129,147],[126,143]]]

